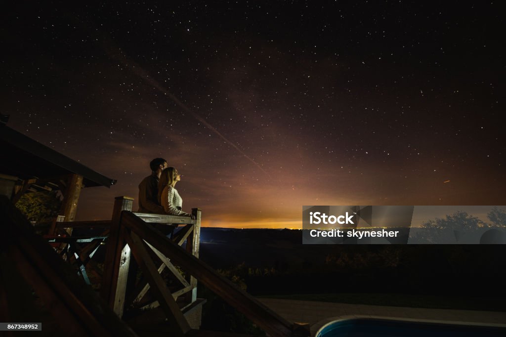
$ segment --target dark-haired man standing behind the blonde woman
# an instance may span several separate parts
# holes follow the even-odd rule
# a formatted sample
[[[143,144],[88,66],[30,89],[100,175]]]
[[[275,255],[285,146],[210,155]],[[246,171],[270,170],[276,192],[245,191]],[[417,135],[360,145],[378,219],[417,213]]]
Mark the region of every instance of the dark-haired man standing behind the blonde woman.
[[[158,202],[158,180],[168,164],[163,158],[154,158],[149,167],[151,175],[139,184],[139,213],[164,214],[163,207]]]

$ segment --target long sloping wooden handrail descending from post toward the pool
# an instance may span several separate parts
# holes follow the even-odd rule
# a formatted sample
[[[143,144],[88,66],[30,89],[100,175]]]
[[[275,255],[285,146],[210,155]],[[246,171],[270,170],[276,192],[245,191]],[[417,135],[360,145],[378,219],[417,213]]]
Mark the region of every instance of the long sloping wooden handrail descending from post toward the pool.
[[[247,292],[239,288],[224,276],[217,273],[213,268],[178,246],[171,239],[160,235],[151,226],[146,225],[142,219],[132,212],[123,212],[122,224],[141,236],[146,242],[158,249],[164,256],[181,266],[183,269],[195,276],[207,288],[215,292],[225,302],[242,312],[252,322],[264,329],[273,337],[286,337],[296,335],[299,331],[298,325],[294,325]],[[307,334],[304,334],[306,333]],[[297,333],[298,334],[298,333]],[[299,334],[298,334],[299,335]],[[303,331],[304,336],[309,336],[309,330]]]

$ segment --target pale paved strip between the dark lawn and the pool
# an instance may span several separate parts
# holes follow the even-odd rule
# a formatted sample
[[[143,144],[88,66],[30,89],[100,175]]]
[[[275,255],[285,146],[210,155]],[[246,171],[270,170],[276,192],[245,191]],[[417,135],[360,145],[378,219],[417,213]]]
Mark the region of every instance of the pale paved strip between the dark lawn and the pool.
[[[506,324],[506,312],[496,311],[405,308],[279,299],[259,300],[285,319],[309,323],[313,328],[321,326],[322,321],[331,317],[352,315]]]

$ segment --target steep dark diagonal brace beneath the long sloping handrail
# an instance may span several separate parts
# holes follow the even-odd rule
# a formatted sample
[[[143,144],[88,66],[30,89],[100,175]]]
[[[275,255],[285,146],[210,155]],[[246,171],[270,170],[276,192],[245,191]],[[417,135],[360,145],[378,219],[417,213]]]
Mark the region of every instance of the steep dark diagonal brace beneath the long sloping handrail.
[[[135,233],[124,233],[126,242],[132,247],[132,253],[137,261],[139,267],[148,277],[151,286],[151,292],[158,300],[162,307],[167,320],[174,327],[176,335],[183,336],[191,328],[183,313],[179,309],[176,301],[168,291],[166,284],[163,282],[160,274],[149,256],[149,253],[144,245],[144,241]]]

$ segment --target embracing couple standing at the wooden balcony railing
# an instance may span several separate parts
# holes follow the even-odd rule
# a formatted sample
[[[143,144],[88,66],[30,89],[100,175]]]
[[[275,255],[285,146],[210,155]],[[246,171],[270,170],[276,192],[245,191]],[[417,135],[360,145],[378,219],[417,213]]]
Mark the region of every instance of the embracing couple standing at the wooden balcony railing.
[[[194,216],[183,212],[183,199],[175,188],[181,175],[174,167],[168,167],[163,158],[149,163],[151,175],[139,184],[139,213],[170,214],[182,217]]]

